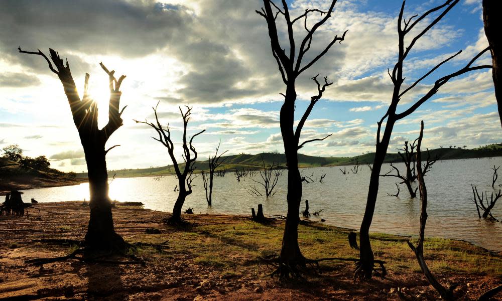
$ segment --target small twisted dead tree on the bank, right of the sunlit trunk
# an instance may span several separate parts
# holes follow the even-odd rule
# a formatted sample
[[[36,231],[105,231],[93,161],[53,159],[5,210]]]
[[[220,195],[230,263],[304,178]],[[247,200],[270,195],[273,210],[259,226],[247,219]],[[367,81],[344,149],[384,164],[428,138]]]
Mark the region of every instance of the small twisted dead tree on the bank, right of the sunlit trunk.
[[[150,125],[157,134],[159,134],[159,138],[153,137],[154,140],[157,140],[162,143],[165,147],[167,147],[167,152],[171,161],[173,162],[174,171],[176,172],[176,177],[178,179],[178,198],[174,203],[173,215],[167,219],[167,222],[171,224],[184,224],[184,221],[181,219],[181,209],[183,204],[185,203],[185,199],[192,193],[192,181],[195,178],[193,176],[193,171],[195,170],[195,161],[197,160],[197,152],[195,147],[193,146],[193,139],[203,133],[205,129],[199,131],[191,137],[187,137],[187,127],[188,121],[190,120],[190,115],[192,114],[192,108],[189,106],[185,106],[187,108],[186,112],[183,112],[181,107],[180,113],[183,118],[183,161],[185,162],[185,166],[183,171],[180,170],[178,165],[178,161],[176,160],[176,156],[174,155],[174,143],[171,139],[171,130],[169,128],[169,123],[167,124],[167,128],[164,128],[159,121],[159,116],[157,115],[157,107],[159,106],[159,102],[157,106],[152,107],[155,113],[155,123],[149,121],[138,121],[137,123],[145,123]],[[193,153],[193,157],[192,157]]]

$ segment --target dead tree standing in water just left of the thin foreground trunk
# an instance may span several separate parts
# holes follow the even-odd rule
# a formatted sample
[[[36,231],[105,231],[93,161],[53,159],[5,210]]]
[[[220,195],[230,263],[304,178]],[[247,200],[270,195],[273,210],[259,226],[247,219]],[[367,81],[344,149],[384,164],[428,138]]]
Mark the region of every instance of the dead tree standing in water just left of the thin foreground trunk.
[[[405,146],[403,148],[399,148],[398,154],[401,156],[401,159],[403,159],[403,162],[406,167],[406,175],[401,175],[399,172],[399,169],[395,167],[391,163],[391,170],[387,172],[384,175],[381,175],[381,177],[396,177],[402,180],[401,183],[399,184],[405,184],[406,188],[408,189],[408,192],[410,193],[410,197],[416,198],[417,197],[417,190],[418,187],[413,190],[411,184],[415,182],[417,179],[417,175],[415,173],[415,143],[417,142],[417,139],[413,141],[413,143],[409,143],[408,141],[405,141]],[[404,155],[401,153],[401,151],[404,152]],[[393,174],[392,172],[396,171],[396,174]],[[399,187],[398,187],[399,189]],[[399,192],[398,192],[399,193]]]

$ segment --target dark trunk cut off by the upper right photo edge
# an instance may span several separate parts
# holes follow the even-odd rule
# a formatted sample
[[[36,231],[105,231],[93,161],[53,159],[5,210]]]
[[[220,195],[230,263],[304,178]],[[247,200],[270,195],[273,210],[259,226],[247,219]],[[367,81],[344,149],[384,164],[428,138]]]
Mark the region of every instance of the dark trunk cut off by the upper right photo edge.
[[[499,65],[502,59],[502,37],[500,36],[502,20],[500,19],[500,13],[502,13],[502,6],[499,0],[483,0],[484,34],[490,44],[495,98],[498,104],[500,125],[502,125],[502,83],[500,83],[502,81],[502,67]]]

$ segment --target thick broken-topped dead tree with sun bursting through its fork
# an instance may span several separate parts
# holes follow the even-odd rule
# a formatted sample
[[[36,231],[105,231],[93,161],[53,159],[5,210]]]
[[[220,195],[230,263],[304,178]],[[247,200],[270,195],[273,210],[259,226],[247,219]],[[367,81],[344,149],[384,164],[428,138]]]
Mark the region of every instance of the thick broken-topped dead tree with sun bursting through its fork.
[[[106,154],[116,146],[105,149],[108,138],[122,126],[122,112],[127,107],[120,107],[120,85],[125,75],[115,78],[115,71],[109,71],[103,63],[101,68],[108,74],[110,99],[108,102],[108,123],[101,129],[98,128],[97,103],[90,97],[87,91],[89,74],[85,74],[84,93],[82,99],[78,96],[77,87],[73,81],[68,61],[63,63],[59,54],[49,49],[49,58],[40,50],[38,52],[24,51],[21,47],[19,52],[42,56],[49,64],[49,69],[57,74],[63,84],[64,92],[70,104],[73,122],[77,127],[80,142],[84,148],[85,162],[87,164],[87,177],[89,179],[90,193],[90,218],[85,234],[85,244],[92,248],[122,249],[126,246],[123,238],[115,233],[111,215],[111,201],[108,197],[108,173],[106,171]],[[56,68],[53,67],[53,64]]]

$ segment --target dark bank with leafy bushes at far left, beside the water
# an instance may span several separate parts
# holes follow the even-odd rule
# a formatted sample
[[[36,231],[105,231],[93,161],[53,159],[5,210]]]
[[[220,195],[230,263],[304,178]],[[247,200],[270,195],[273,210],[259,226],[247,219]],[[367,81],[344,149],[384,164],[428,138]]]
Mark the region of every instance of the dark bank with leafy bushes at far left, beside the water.
[[[39,171],[30,167],[21,167],[17,162],[0,157],[0,196],[11,190],[76,185],[82,182],[86,182],[86,179],[69,177],[55,169]]]

